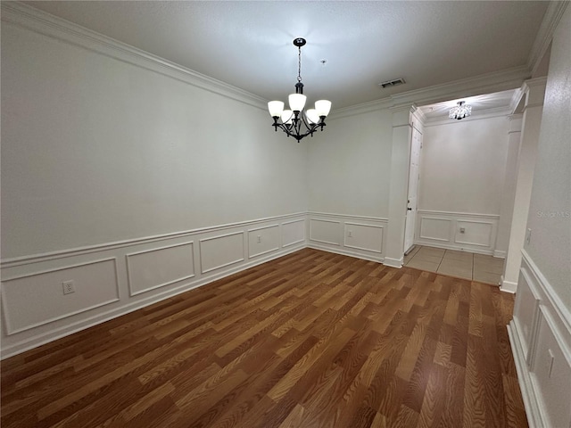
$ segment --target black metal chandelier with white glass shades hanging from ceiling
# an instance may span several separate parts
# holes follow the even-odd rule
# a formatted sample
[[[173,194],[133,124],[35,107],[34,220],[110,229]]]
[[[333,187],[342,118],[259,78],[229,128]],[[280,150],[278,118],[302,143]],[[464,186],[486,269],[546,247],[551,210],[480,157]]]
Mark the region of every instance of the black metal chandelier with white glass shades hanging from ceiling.
[[[325,127],[325,118],[331,110],[331,102],[319,100],[315,102],[314,109],[303,111],[306,96],[303,95],[302,84],[302,46],[306,44],[304,38],[294,39],[294,45],[298,49],[297,61],[297,83],[295,84],[295,94],[288,97],[289,110],[284,110],[284,103],[281,101],[270,101],[268,103],[269,115],[274,119],[272,126],[282,129],[287,136],[293,136],[299,143],[306,136],[313,136],[319,128]]]

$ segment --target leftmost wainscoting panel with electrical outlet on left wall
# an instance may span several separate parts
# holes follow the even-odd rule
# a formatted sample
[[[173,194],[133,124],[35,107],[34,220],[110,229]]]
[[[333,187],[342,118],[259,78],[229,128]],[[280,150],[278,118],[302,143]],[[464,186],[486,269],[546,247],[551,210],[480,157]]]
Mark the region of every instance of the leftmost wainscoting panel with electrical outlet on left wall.
[[[63,294],[67,281],[75,292]],[[120,300],[116,259],[4,279],[2,292],[6,333],[20,333]]]

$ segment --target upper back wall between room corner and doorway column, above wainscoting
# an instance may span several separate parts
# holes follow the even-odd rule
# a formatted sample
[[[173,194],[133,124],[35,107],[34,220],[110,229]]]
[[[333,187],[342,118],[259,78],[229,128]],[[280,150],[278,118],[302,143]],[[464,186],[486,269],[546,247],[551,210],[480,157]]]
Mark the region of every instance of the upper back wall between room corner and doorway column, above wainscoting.
[[[327,119],[308,146],[310,211],[388,217],[391,111]]]

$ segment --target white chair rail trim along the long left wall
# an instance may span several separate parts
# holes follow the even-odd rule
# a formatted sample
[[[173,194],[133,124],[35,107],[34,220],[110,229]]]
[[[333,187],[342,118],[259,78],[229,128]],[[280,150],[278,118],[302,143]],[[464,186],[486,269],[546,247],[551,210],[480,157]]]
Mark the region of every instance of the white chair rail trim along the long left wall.
[[[278,220],[278,219],[282,219],[282,218],[294,218],[294,217],[300,217],[300,216],[305,216],[305,212],[296,212],[294,214],[285,214],[285,215],[281,215],[281,216],[273,216],[273,217],[268,217],[268,218],[256,218],[253,220],[237,221],[234,223],[227,223],[227,224],[218,225],[218,226],[198,227],[195,229],[185,230],[185,231],[181,231],[181,232],[171,232],[171,233],[161,234],[161,235],[151,235],[151,236],[145,236],[142,238],[134,238],[134,239],[127,239],[127,240],[123,240],[123,241],[115,241],[112,243],[98,243],[95,245],[86,245],[84,247],[76,247],[76,248],[71,248],[71,249],[66,249],[66,250],[49,251],[49,252],[43,252],[43,253],[38,253],[38,254],[31,254],[31,255],[27,255],[27,256],[13,257],[10,259],[1,260],[0,261],[0,267],[2,267],[3,269],[4,268],[13,268],[16,266],[28,265],[30,263],[37,263],[40,261],[63,259],[63,258],[71,257],[71,256],[79,256],[82,254],[88,254],[91,252],[114,250],[117,248],[128,247],[128,246],[132,246],[132,245],[141,245],[144,243],[154,243],[157,241],[163,241],[163,240],[167,240],[167,239],[182,238],[182,237],[191,236],[191,235],[204,234],[204,233],[208,233],[208,232],[216,232],[216,231],[228,229],[231,227],[244,226],[244,225],[253,224],[253,223],[261,223],[264,221]],[[294,221],[297,221],[297,220],[294,220]],[[300,221],[304,221],[304,219],[301,219]]]

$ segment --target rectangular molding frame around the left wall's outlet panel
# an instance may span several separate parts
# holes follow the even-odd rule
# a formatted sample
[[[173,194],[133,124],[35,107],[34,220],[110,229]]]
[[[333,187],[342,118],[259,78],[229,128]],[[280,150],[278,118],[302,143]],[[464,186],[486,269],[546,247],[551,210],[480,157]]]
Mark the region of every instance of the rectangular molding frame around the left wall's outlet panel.
[[[117,258],[116,257],[110,257],[107,259],[97,259],[97,260],[93,260],[93,261],[87,261],[85,263],[78,263],[75,265],[70,265],[70,266],[64,266],[62,268],[53,268],[53,269],[46,269],[43,271],[39,271],[39,272],[34,272],[34,273],[30,273],[30,274],[26,274],[26,275],[21,275],[21,276],[13,276],[12,278],[9,279],[4,279],[3,282],[4,283],[8,283],[10,281],[15,281],[17,279],[22,279],[22,278],[28,278],[30,276],[38,276],[38,275],[45,275],[45,274],[50,274],[53,272],[58,272],[60,270],[68,270],[68,269],[72,269],[72,268],[80,268],[83,266],[88,266],[88,265],[96,265],[98,263],[103,263],[106,261],[112,261],[113,262],[113,272],[115,274],[115,292],[117,297],[115,299],[112,300],[105,300],[99,303],[96,303],[95,305],[91,305],[87,308],[82,308],[82,309],[78,309],[78,310],[74,310],[73,312],[68,312],[65,314],[62,314],[58,317],[52,317],[52,318],[48,318],[44,321],[41,321],[39,323],[35,323],[32,325],[27,325],[25,327],[21,327],[21,328],[17,328],[17,329],[13,329],[12,328],[12,323],[10,322],[10,312],[8,311],[8,308],[5,306],[6,303],[6,299],[2,299],[2,311],[3,311],[3,316],[4,316],[4,325],[6,326],[6,335],[7,336],[11,336],[12,334],[16,334],[16,333],[21,333],[21,332],[25,332],[28,330],[31,330],[32,328],[37,328],[41,325],[47,325],[50,323],[54,323],[55,321],[59,321],[60,319],[63,318],[68,318],[68,317],[73,317],[74,315],[78,315],[84,312],[87,312],[89,310],[92,309],[96,309],[96,308],[101,308],[103,306],[109,305],[111,303],[114,303],[116,301],[120,301],[120,289],[119,289],[119,271],[117,269]]]

